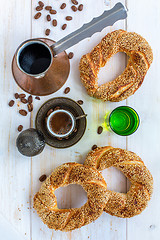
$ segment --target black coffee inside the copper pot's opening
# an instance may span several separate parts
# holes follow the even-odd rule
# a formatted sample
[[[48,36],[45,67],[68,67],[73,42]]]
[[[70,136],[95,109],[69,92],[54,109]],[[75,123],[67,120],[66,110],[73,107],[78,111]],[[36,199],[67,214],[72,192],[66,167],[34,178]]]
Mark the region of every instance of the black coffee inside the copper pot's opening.
[[[49,49],[41,43],[31,43],[19,56],[19,64],[24,72],[29,74],[43,73],[51,63]]]

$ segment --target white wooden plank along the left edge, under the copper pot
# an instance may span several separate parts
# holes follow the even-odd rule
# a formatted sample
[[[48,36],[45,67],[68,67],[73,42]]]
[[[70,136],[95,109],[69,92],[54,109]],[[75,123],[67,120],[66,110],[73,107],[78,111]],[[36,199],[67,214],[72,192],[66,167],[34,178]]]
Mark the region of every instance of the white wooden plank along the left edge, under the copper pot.
[[[9,108],[8,102],[15,92],[22,92],[12,77],[11,62],[18,45],[31,35],[30,1],[3,1],[0,9],[1,50],[0,50],[0,211],[30,239],[30,158],[20,155],[15,147],[17,127],[28,128],[30,116],[22,117],[18,101]],[[17,103],[20,107],[17,106]]]

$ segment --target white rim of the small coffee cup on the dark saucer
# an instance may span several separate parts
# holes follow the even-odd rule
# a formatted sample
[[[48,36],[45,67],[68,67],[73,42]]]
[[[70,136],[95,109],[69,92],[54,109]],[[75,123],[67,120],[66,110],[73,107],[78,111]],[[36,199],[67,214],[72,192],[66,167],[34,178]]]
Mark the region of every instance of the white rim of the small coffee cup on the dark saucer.
[[[57,113],[65,113],[65,114],[67,114],[67,115],[70,117],[70,119],[71,119],[71,128],[70,128],[69,131],[66,132],[65,134],[57,134],[57,133],[55,133],[55,132],[52,130],[51,126],[50,126],[50,121],[51,121],[51,119],[52,119],[53,116],[54,116],[55,114],[57,114]],[[54,123],[52,123],[52,124],[54,124]],[[75,117],[73,116],[73,114],[72,114],[71,112],[69,112],[69,111],[67,111],[67,110],[64,110],[64,109],[55,110],[55,111],[52,112],[52,113],[48,116],[48,118],[47,118],[47,129],[48,129],[49,133],[52,134],[52,136],[57,137],[57,138],[66,138],[66,137],[68,137],[68,136],[71,135],[71,133],[74,131],[75,126],[76,126],[76,119],[75,119]]]

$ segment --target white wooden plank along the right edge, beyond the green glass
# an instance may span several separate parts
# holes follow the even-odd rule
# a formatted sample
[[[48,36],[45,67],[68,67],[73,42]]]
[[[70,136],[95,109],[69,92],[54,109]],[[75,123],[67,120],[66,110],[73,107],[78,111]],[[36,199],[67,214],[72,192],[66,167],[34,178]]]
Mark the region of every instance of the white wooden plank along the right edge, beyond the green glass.
[[[139,216],[127,221],[127,239],[159,239],[160,198],[159,191],[159,21],[160,2],[134,2],[128,0],[128,31],[141,34],[150,43],[154,61],[149,69],[142,87],[128,98],[127,103],[138,111],[141,125],[137,133],[128,137],[128,149],[136,152],[147,165],[154,178],[154,194],[148,208]]]

